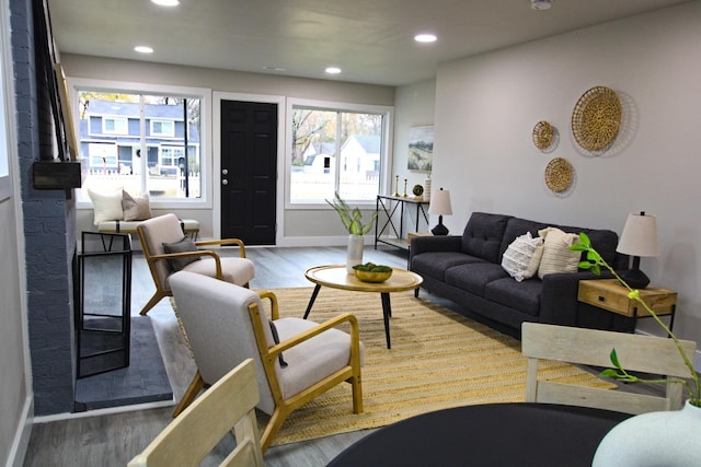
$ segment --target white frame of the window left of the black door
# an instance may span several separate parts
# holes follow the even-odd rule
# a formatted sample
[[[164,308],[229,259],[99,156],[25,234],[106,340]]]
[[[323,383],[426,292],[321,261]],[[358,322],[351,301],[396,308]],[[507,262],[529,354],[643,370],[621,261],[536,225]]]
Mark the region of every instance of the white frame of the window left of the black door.
[[[73,126],[80,125],[80,106],[78,105],[80,91],[103,92],[129,92],[145,95],[171,95],[176,97],[193,97],[199,100],[199,161],[200,161],[200,197],[199,198],[151,198],[153,209],[211,209],[212,208],[212,174],[214,156],[211,144],[211,105],[212,95],[209,87],[175,86],[163,84],[149,84],[127,81],[108,81],[84,78],[66,79],[73,114]],[[74,128],[76,135],[80,135],[80,128]],[[159,149],[160,156],[160,149]],[[84,161],[87,163],[87,161]],[[76,190],[78,209],[92,209],[92,202],[87,194]]]

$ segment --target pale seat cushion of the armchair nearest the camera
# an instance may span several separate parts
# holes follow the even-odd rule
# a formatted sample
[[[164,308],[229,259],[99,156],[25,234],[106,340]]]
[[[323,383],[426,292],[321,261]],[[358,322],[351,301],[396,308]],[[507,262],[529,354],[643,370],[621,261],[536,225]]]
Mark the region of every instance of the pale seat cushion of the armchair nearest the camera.
[[[280,318],[275,327],[280,342],[317,326],[317,323],[302,318]],[[314,382],[348,365],[350,361],[350,336],[338,329],[329,329],[284,352],[287,366],[278,371],[283,397],[288,399]],[[360,364],[365,350],[360,342]],[[294,369],[294,371],[287,371]]]

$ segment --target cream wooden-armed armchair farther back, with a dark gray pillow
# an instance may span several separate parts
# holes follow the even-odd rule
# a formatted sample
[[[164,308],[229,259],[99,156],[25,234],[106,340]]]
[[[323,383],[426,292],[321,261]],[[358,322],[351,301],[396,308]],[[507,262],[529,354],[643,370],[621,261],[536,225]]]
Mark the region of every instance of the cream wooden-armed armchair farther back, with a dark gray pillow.
[[[146,220],[137,226],[137,232],[156,284],[156,293],[141,310],[141,315],[146,315],[164,296],[173,294],[169,282],[176,270],[183,269],[242,287],[248,287],[254,277],[253,262],[245,258],[245,246],[239,238],[192,242],[183,234],[175,214]],[[215,250],[198,249],[217,245],[238,247],[239,257],[220,257]]]

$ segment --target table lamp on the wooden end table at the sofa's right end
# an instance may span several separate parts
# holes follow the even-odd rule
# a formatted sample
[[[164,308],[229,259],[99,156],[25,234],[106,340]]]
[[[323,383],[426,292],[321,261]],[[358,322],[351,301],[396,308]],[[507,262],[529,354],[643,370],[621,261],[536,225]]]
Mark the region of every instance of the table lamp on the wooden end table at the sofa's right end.
[[[645,289],[650,279],[640,270],[641,256],[657,256],[657,219],[654,215],[629,214],[623,233],[616,248],[618,253],[633,257],[633,267],[620,276],[633,289]]]

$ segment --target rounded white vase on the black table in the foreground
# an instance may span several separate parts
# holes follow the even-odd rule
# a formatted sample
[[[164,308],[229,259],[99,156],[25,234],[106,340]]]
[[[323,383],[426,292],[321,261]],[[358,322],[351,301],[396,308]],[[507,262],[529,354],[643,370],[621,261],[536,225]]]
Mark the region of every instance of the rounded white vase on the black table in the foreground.
[[[701,408],[648,412],[613,427],[594,455],[594,467],[701,466]]]

